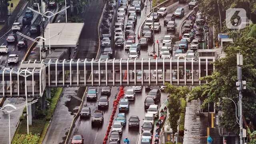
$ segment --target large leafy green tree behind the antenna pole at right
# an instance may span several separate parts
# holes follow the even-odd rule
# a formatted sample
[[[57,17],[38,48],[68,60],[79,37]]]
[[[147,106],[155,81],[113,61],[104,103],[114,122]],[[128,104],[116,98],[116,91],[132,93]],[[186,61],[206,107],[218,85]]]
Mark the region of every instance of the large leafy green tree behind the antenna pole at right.
[[[214,73],[202,78],[208,80],[208,84],[193,88],[189,94],[189,100],[205,99],[203,108],[209,102],[219,102],[219,98],[222,97],[231,98],[236,102],[238,94],[236,54],[240,52],[243,55],[242,78],[247,82],[246,90],[242,92],[243,116],[249,121],[254,119],[256,113],[256,39],[248,36],[250,28],[245,28],[241,38],[224,50],[226,57],[216,60]],[[238,132],[234,103],[230,100],[221,100],[218,109],[224,112],[220,118],[220,124],[230,131]]]

